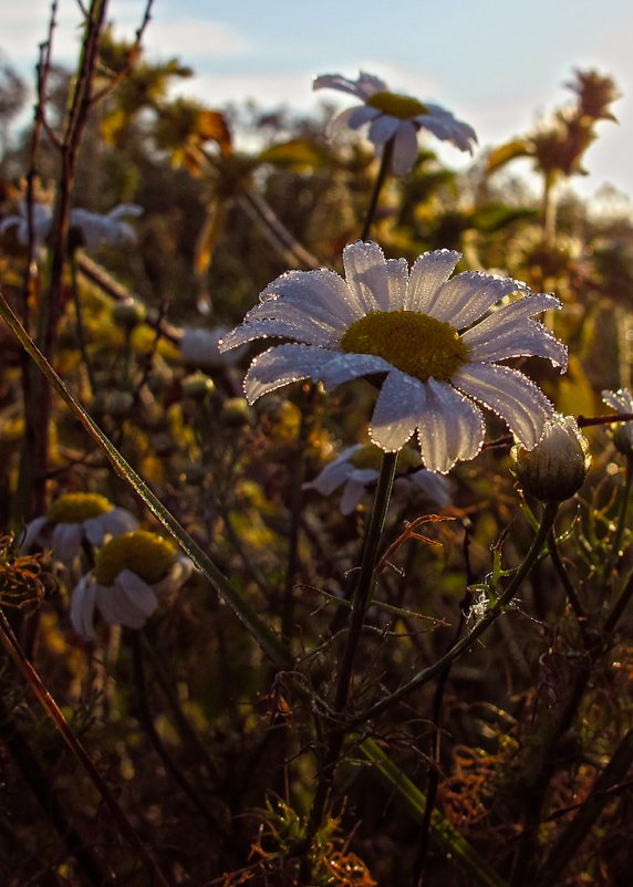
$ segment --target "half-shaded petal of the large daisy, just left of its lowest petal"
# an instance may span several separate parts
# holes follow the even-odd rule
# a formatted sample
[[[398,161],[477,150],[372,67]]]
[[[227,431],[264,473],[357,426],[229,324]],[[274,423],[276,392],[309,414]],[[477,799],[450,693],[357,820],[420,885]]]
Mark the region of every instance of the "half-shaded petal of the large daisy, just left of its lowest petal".
[[[425,405],[424,386],[413,376],[392,369],[384,380],[370,437],[387,452],[401,450],[413,435]]]

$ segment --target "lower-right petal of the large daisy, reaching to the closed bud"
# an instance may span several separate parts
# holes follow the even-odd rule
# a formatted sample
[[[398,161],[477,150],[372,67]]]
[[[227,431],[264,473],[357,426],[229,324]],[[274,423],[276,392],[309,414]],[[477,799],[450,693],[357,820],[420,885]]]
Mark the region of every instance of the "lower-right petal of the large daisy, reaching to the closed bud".
[[[500,416],[526,449],[539,442],[546,419],[553,415],[552,405],[540,388],[507,366],[466,364],[450,380]]]

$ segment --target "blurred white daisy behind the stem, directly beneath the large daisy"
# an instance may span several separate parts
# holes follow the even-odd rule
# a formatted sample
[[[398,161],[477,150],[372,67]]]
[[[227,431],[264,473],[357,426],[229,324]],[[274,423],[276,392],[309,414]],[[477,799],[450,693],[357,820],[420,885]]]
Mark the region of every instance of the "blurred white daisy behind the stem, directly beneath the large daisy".
[[[304,483],[303,489],[316,490],[321,495],[331,495],[339,487],[343,487],[341,514],[351,514],[361,503],[367,488],[377,481],[381,459],[381,450],[372,445],[357,443],[354,447],[347,447],[326,465],[314,480]],[[406,477],[396,479],[396,486],[407,491],[412,484],[437,505],[443,507],[450,502],[448,481],[440,474],[421,468]]]

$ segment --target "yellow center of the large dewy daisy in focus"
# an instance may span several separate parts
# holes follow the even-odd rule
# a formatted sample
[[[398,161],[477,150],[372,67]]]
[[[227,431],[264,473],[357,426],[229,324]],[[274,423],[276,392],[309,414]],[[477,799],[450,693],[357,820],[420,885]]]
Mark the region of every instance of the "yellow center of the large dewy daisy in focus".
[[[467,345],[449,323],[415,311],[372,311],[350,326],[341,347],[383,357],[421,382],[446,382],[468,359]]]

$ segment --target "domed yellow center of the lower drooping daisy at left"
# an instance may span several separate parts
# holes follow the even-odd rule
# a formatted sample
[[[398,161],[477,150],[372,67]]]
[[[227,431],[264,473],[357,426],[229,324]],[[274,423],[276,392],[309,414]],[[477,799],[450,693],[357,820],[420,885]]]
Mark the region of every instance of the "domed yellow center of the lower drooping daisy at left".
[[[113,585],[124,570],[131,570],[153,585],[164,578],[176,560],[176,545],[147,530],[114,536],[96,555],[94,575],[101,585]]]

